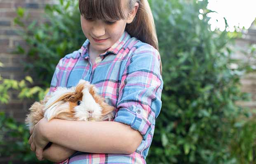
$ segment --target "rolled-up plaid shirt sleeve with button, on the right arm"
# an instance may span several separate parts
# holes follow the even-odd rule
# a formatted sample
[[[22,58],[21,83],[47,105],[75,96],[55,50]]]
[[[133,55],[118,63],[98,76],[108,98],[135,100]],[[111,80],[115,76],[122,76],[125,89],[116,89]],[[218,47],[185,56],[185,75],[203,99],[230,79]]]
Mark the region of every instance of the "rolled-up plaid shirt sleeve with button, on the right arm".
[[[139,47],[122,74],[114,121],[131,125],[146,140],[160,113],[162,88],[159,52],[150,45]]]

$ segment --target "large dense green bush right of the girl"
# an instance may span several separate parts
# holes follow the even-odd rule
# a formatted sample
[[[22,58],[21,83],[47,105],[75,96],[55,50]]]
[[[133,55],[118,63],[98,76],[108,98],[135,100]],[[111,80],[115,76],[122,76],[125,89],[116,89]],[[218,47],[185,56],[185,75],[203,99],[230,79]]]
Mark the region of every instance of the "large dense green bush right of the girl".
[[[247,95],[239,89],[242,70],[228,67],[235,62],[227,46],[232,40],[226,32],[209,30],[205,1],[152,4],[164,90],[148,163],[236,164],[240,157],[230,142],[247,110],[235,102]]]

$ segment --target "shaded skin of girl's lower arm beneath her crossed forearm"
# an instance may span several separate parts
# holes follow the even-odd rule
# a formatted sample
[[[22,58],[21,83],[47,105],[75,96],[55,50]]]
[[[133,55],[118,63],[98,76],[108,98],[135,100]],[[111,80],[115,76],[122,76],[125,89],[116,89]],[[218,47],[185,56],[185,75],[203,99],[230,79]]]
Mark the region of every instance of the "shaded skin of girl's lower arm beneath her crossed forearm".
[[[43,157],[49,161],[59,163],[73,155],[75,152],[75,150],[52,143],[49,148],[43,151]]]

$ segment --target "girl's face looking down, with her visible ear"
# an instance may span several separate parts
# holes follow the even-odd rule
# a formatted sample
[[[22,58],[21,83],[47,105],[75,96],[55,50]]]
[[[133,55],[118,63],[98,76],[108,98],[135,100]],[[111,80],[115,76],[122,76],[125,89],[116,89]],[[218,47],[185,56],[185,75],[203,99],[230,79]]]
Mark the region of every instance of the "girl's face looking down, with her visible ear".
[[[90,41],[90,49],[94,52],[103,53],[113,46],[113,44],[122,36],[126,24],[133,21],[138,7],[139,4],[136,4],[130,13],[126,10],[126,19],[118,21],[96,20],[81,15],[82,31],[85,34],[85,37]]]

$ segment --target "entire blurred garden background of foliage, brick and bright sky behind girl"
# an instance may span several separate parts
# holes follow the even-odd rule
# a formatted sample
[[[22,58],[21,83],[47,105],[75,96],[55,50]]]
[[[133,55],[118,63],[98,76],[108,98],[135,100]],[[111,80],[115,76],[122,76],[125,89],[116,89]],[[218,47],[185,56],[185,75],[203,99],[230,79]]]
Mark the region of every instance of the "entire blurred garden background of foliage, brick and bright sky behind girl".
[[[149,164],[256,163],[255,0],[148,0],[163,66]],[[0,0],[0,163],[39,162],[24,125],[85,41],[78,0]]]

